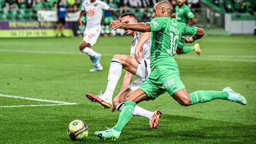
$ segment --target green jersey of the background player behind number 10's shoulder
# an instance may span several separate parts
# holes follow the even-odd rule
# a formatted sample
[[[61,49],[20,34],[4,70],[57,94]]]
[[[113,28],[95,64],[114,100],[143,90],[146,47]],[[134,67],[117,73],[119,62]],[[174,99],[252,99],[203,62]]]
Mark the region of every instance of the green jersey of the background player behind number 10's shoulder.
[[[195,17],[190,8],[183,4],[181,7],[178,5],[175,7],[176,11],[176,20],[180,23],[187,23],[188,20]]]

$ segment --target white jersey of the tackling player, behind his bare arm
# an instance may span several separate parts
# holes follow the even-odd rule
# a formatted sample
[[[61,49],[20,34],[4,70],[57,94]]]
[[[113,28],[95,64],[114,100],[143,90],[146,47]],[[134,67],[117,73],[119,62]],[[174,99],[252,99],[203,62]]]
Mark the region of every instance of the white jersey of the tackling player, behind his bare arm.
[[[141,34],[142,33],[140,32],[136,32],[135,36],[133,37],[131,51],[130,51],[131,56],[135,56],[135,49],[139,42]],[[142,47],[143,47],[142,59],[150,59],[151,39],[148,39],[148,41],[146,41],[146,43],[144,43]]]

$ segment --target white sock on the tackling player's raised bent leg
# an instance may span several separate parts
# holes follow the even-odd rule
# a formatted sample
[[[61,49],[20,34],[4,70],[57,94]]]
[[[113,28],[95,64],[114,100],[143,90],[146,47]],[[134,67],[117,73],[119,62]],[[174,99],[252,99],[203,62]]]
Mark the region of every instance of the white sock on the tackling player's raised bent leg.
[[[117,82],[119,81],[119,78],[121,76],[123,65],[121,64],[120,60],[118,59],[112,59],[110,63],[110,69],[108,72],[108,84],[107,88],[104,92],[104,97],[112,100],[114,89],[116,89]]]

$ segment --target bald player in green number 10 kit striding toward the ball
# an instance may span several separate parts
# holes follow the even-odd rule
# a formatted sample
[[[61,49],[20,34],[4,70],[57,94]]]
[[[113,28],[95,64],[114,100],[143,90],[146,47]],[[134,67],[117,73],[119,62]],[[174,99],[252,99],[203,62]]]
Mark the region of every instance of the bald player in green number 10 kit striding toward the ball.
[[[181,81],[180,71],[174,59],[176,47],[180,37],[193,35],[183,37],[187,43],[192,43],[194,40],[203,37],[204,31],[185,23],[178,23],[177,20],[171,18],[172,10],[172,5],[169,2],[158,2],[153,9],[153,20],[151,22],[146,24],[123,24],[120,21],[113,21],[110,24],[113,30],[123,28],[125,30],[152,32],[151,74],[139,89],[127,95],[117,124],[111,129],[94,133],[99,139],[118,139],[121,130],[132,118],[135,105],[144,100],[155,100],[165,92],[168,92],[178,103],[185,106],[206,103],[215,99],[235,101],[242,105],[247,104],[245,98],[232,91],[231,88],[224,88],[223,91],[196,91],[188,94]],[[135,59],[137,61],[141,58],[138,54],[139,50],[136,49]]]

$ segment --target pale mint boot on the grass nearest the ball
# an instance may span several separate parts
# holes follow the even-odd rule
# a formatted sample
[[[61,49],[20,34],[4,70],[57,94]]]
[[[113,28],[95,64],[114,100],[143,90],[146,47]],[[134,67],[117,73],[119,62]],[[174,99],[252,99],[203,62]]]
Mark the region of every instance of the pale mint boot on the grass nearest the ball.
[[[94,135],[100,140],[107,140],[107,139],[116,140],[119,138],[120,134],[121,132],[117,132],[114,129],[107,129],[104,131],[98,131],[94,133]]]

